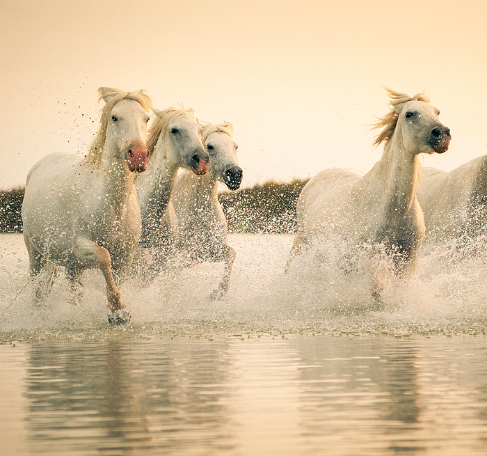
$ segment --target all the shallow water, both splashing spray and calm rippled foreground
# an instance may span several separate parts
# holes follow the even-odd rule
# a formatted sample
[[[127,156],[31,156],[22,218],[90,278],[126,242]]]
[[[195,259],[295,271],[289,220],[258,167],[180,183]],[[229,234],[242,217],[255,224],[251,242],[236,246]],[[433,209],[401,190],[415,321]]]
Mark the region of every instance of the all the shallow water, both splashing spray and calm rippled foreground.
[[[423,249],[380,308],[340,246],[284,271],[292,237],[232,235],[222,265],[78,306],[62,274],[33,308],[19,235],[0,236],[0,455],[426,455],[487,451],[486,264]]]

